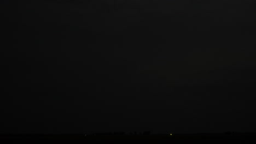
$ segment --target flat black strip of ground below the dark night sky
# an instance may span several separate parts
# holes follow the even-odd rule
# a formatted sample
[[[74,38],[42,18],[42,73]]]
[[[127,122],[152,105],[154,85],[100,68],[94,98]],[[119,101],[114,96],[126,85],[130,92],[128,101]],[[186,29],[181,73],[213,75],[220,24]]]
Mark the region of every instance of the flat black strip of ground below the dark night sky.
[[[82,135],[16,135],[0,136],[1,143],[255,143],[256,135],[144,135],[144,136],[82,136]]]

